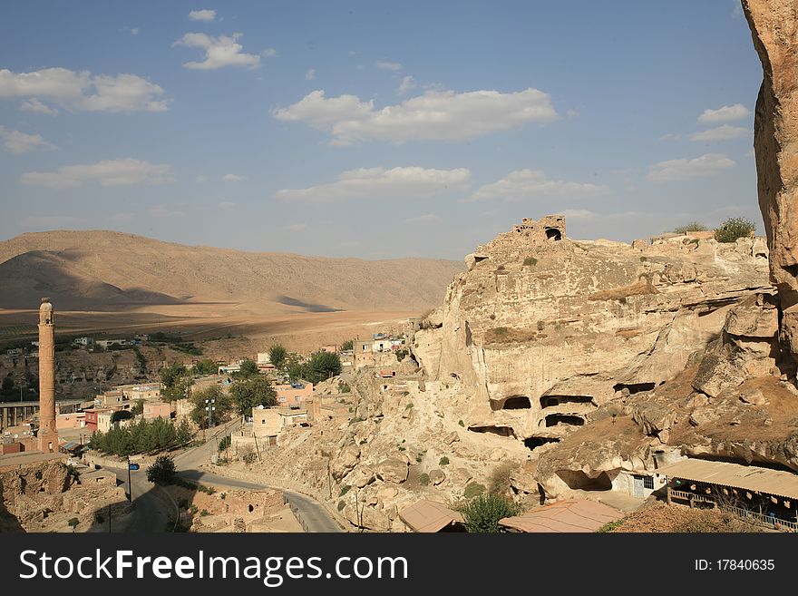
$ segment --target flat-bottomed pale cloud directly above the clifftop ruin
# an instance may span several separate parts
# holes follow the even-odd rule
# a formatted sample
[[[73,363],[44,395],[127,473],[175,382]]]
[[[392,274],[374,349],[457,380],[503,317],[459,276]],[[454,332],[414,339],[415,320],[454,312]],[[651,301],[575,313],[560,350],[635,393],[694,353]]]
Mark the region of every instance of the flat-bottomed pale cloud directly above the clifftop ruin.
[[[547,180],[546,174],[542,170],[525,169],[511,171],[500,181],[482,186],[463,202],[493,199],[512,201],[575,196],[591,197],[607,194],[608,191],[606,186],[596,184]]]

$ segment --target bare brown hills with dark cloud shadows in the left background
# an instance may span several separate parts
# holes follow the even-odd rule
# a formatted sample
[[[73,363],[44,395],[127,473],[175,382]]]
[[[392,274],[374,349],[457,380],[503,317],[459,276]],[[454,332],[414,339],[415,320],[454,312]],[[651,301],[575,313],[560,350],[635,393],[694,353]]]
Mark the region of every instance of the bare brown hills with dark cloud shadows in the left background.
[[[120,232],[49,231],[0,242],[0,308],[227,303],[262,314],[420,312],[464,269],[443,259],[326,259],[186,246]]]

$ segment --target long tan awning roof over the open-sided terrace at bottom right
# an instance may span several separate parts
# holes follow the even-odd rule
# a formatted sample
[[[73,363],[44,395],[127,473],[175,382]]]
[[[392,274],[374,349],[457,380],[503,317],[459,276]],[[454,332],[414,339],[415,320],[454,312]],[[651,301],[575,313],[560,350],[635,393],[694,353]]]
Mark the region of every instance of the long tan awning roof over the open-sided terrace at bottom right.
[[[707,484],[720,484],[757,493],[798,499],[798,474],[755,465],[686,459],[656,470],[670,478],[684,478]]]

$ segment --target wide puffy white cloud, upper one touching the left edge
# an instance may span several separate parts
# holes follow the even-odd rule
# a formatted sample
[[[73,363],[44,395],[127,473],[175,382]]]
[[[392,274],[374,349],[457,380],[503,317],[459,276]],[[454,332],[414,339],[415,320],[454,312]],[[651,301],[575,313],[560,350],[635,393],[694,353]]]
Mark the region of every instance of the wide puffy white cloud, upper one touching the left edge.
[[[44,68],[32,73],[0,70],[0,98],[27,97],[20,108],[45,112],[39,98],[79,112],[165,112],[165,101],[157,101],[163,89],[136,74],[110,76],[65,68]],[[46,106],[44,106],[46,108]]]

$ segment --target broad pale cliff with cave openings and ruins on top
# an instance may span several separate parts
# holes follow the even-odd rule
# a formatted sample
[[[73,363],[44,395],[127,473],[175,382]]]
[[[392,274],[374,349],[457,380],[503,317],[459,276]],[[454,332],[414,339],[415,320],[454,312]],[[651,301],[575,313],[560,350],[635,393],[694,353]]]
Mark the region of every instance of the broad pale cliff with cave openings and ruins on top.
[[[428,379],[467,388],[468,430],[556,443],[600,406],[676,376],[721,337],[732,308],[774,292],[762,239],[629,245],[575,242],[564,230],[558,218],[524,220],[478,247],[414,336]],[[737,327],[758,347],[775,335],[771,322]],[[773,365],[764,357],[760,367]],[[705,368],[706,386],[728,384],[725,369]]]

